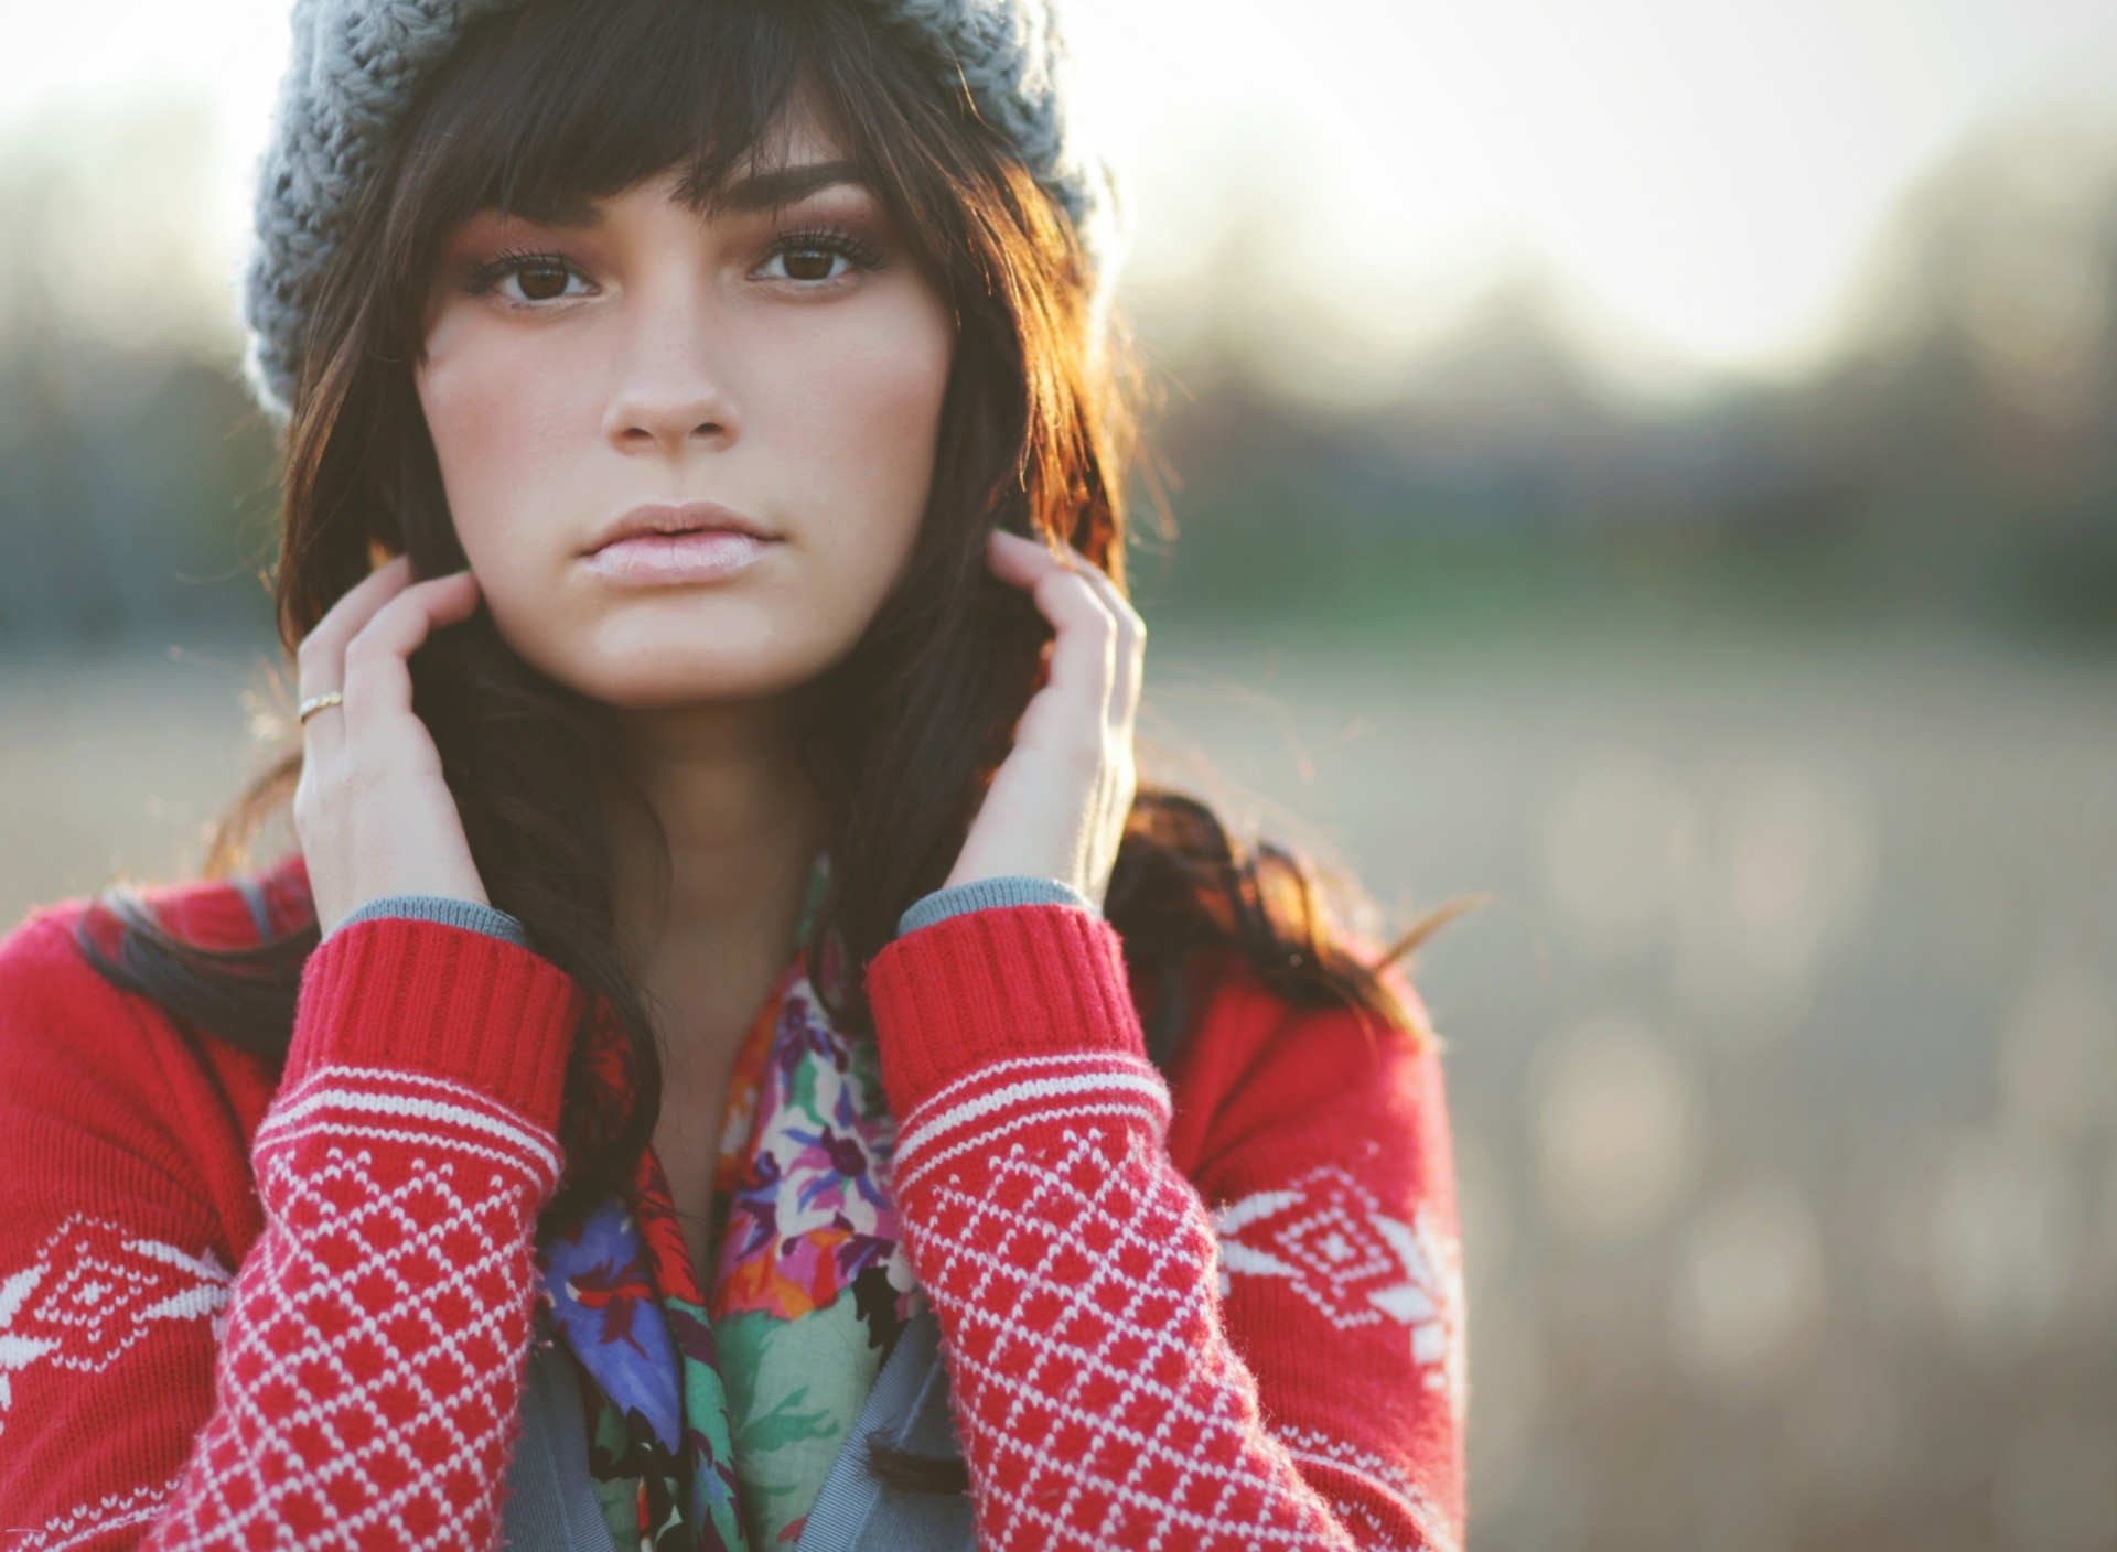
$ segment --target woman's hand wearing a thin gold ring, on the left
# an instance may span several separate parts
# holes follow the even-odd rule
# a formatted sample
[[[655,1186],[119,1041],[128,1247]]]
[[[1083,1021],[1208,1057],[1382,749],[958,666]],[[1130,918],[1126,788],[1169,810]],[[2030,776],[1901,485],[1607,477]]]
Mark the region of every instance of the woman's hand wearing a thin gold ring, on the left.
[[[411,709],[411,654],[476,608],[470,572],[413,582],[411,561],[398,557],[341,597],[301,644],[301,699],[345,697],[303,726],[294,788],[294,834],[324,932],[400,894],[491,904],[440,752]]]

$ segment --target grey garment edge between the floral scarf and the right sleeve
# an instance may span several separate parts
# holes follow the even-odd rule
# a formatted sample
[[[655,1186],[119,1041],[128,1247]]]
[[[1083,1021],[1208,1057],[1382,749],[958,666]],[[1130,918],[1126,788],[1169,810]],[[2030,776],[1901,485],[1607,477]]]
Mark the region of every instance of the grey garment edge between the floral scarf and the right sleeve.
[[[929,1309],[898,1334],[794,1552],[976,1552],[970,1495],[885,1491],[868,1469],[868,1440],[919,1455],[961,1455],[940,1321]]]

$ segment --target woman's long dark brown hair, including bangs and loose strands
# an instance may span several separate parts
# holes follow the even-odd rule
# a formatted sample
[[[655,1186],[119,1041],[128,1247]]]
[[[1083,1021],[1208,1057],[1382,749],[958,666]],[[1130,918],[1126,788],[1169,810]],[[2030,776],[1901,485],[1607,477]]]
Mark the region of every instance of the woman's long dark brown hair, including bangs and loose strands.
[[[857,1029],[860,968],[946,877],[1037,686],[1048,629],[987,576],[984,534],[1073,544],[1122,584],[1130,438],[1124,356],[1099,339],[1078,233],[961,80],[857,0],[527,0],[470,30],[360,205],[315,311],[288,430],[277,603],[292,648],[379,553],[409,553],[419,576],[466,563],[413,387],[432,265],[455,222],[574,210],[667,169],[711,205],[796,95],[836,129],[957,322],[915,555],[811,697],[804,739],[830,855],[809,953],[845,968],[830,995]],[[612,1112],[576,1042],[563,1220],[631,1175],[658,1109],[654,1037],[614,932],[603,794],[622,777],[605,769],[595,707],[525,665],[483,610],[419,652],[413,682],[493,904],[591,993],[584,1029],[608,1008],[629,1052],[633,1101]],[[296,775],[298,754],[260,779],[216,855],[235,855]],[[212,953],[135,900],[106,904],[116,946],[87,927],[83,942],[108,976],[227,1040],[286,1048],[313,925]],[[1241,953],[1293,1001],[1408,1027],[1327,925],[1308,870],[1281,851],[1245,855],[1188,798],[1139,798],[1107,915],[1135,976],[1158,989],[1162,1061],[1183,1023],[1183,966],[1209,949]]]

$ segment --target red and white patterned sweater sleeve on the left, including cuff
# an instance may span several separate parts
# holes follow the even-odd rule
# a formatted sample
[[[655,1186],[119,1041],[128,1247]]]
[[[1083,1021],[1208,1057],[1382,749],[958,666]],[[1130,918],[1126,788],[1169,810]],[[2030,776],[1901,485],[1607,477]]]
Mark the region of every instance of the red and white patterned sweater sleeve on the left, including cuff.
[[[0,1040],[182,1048],[83,976],[53,997],[0,972],[0,1025],[42,1018]],[[256,1131],[239,1266],[216,1251],[212,1150],[157,1073],[87,1061],[11,1090],[42,1148],[34,1209],[0,1222],[6,1546],[495,1546],[578,1006],[481,934],[332,934]],[[112,1046],[123,1023],[144,1033]]]

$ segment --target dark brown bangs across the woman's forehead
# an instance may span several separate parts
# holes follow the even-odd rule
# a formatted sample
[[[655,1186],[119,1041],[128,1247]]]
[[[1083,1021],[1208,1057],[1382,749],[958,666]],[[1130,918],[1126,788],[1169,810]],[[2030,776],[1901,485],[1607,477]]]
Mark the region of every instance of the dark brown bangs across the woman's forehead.
[[[948,140],[936,114],[959,121],[955,138],[991,140],[961,83],[934,66],[843,0],[529,0],[489,17],[421,91],[394,176],[381,180],[390,332],[417,351],[426,282],[457,222],[481,210],[574,220],[669,172],[686,199],[711,207],[739,167],[777,163],[796,102],[819,114],[946,286],[963,186],[989,184],[1006,152],[993,140],[982,169],[906,165],[906,146]]]

